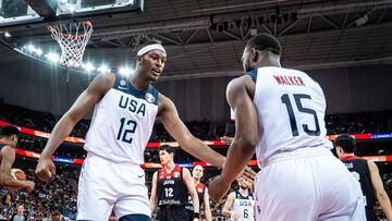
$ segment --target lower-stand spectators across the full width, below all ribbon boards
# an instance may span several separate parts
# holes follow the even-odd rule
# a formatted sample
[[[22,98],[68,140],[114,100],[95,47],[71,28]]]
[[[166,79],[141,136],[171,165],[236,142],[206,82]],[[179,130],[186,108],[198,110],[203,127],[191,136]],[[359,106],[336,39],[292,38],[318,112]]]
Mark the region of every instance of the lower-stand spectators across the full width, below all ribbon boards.
[[[29,221],[50,221],[56,212],[60,212],[65,218],[63,220],[75,219],[77,177],[79,174],[77,170],[60,167],[58,174],[49,183],[38,182],[34,177],[34,169],[25,169],[24,171],[26,171],[28,179],[36,182],[36,189],[33,193],[1,189],[0,220],[9,220],[12,214],[16,213],[16,207],[20,204],[25,206],[25,214]],[[154,170],[146,171],[146,184],[149,191],[151,189],[152,174]],[[204,181],[208,183],[213,175],[206,170]],[[392,173],[383,174],[382,180],[387,193],[392,197]],[[236,188],[236,184],[233,184],[230,192]],[[223,204],[212,204],[211,201],[215,220],[225,220],[221,216],[222,208]],[[376,208],[379,220],[384,219],[381,208],[379,206]]]

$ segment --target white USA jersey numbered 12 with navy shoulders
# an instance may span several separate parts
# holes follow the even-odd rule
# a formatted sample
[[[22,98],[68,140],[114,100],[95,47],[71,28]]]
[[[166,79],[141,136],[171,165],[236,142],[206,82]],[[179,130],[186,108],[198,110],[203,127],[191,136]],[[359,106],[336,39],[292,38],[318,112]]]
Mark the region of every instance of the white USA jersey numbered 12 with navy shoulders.
[[[137,90],[126,77],[96,105],[85,149],[114,162],[144,163],[144,150],[158,113],[158,91]]]

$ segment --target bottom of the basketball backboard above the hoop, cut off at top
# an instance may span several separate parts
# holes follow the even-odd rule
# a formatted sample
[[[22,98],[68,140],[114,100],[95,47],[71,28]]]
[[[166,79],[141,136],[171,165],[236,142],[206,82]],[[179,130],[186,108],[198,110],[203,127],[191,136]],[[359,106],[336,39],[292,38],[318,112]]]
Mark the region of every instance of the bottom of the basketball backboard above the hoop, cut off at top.
[[[0,28],[143,11],[143,0],[0,0]]]

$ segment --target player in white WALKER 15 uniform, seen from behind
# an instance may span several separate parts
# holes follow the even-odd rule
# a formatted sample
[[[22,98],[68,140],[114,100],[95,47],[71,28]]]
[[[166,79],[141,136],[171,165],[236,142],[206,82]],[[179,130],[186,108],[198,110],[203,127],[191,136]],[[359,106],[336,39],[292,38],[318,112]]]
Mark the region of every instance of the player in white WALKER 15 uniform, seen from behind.
[[[209,185],[212,199],[228,192],[256,151],[258,220],[365,220],[360,186],[326,138],[321,87],[304,72],[281,67],[280,56],[279,41],[267,34],[245,47],[246,74],[226,90],[236,133],[221,175]]]

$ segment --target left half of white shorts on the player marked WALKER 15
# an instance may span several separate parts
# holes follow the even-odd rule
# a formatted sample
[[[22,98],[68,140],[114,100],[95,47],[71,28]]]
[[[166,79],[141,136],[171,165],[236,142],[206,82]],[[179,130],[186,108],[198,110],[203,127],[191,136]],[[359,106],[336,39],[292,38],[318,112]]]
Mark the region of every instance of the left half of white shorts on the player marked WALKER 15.
[[[258,221],[313,221],[320,196],[313,162],[302,151],[270,159],[255,182]],[[305,158],[306,157],[306,158]]]

